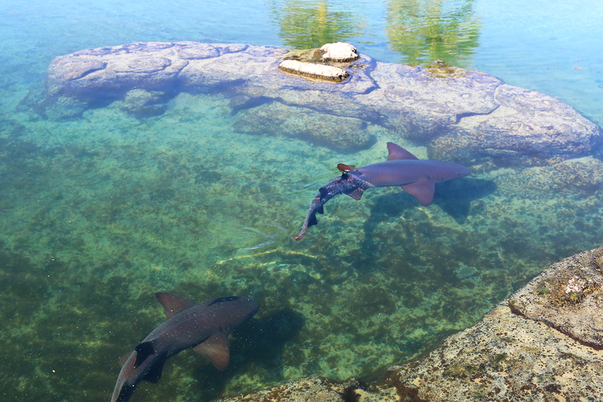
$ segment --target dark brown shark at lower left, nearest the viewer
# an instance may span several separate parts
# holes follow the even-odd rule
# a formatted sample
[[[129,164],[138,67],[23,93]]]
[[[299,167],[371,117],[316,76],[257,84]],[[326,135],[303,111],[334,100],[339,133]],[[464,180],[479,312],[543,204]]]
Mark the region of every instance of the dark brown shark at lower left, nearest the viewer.
[[[142,380],[156,383],[163,363],[184,349],[193,348],[224,370],[229,363],[228,336],[250,319],[259,306],[250,298],[230,296],[194,304],[169,293],[156,293],[168,321],[142,340],[119,372],[111,402],[127,402]]]

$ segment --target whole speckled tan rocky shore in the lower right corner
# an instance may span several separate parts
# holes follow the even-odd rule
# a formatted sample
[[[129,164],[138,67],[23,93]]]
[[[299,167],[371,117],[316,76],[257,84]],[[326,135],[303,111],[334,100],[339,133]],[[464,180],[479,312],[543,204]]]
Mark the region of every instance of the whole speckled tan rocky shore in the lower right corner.
[[[603,400],[603,246],[552,264],[380,384],[307,377],[219,402]]]

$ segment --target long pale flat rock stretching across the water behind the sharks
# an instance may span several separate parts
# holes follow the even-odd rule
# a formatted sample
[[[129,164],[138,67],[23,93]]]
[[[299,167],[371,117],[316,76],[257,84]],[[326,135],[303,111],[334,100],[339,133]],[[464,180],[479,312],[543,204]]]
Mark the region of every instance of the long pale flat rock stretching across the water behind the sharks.
[[[314,113],[317,127],[332,116],[362,120],[426,144],[432,159],[464,165],[546,165],[601,152],[601,129],[572,107],[482,72],[441,62],[425,68],[380,63],[341,42],[285,53],[274,46],[198,42],[87,49],[52,60],[45,94],[30,94],[23,104],[43,98],[31,109],[60,120],[77,117],[88,107],[128,103],[130,91],[168,94],[141,105],[152,105],[150,113],[139,113],[144,116],[162,112],[161,104],[178,92],[211,92],[304,109]],[[350,62],[354,55],[358,60]],[[326,60],[337,61],[316,64]],[[233,113],[243,109],[233,108]],[[339,143],[337,135],[326,142],[334,150],[357,148],[356,141],[351,148]]]

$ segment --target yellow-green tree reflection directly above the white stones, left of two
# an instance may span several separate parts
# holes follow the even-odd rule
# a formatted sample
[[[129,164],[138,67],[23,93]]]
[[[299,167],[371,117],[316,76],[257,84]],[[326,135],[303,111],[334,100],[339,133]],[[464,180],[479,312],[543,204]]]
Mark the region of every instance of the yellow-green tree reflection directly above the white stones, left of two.
[[[279,37],[296,49],[317,48],[346,41],[366,31],[364,19],[349,11],[334,11],[326,1],[286,0],[271,4]],[[340,8],[340,7],[339,7]]]

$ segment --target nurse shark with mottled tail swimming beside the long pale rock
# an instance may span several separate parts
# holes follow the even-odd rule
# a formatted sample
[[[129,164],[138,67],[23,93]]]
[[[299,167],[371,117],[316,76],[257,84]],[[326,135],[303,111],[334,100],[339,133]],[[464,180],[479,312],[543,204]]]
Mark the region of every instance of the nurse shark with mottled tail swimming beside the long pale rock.
[[[469,169],[452,162],[420,160],[400,145],[387,143],[389,156],[385,162],[353,168],[338,164],[341,177],[331,180],[318,190],[314,197],[300,234],[294,237],[301,240],[308,228],[316,225],[317,212],[324,214],[323,205],[337,194],[347,194],[355,200],[362,197],[367,188],[400,186],[402,190],[412,194],[423,206],[431,205],[434,200],[435,183],[458,179],[469,174]]]

